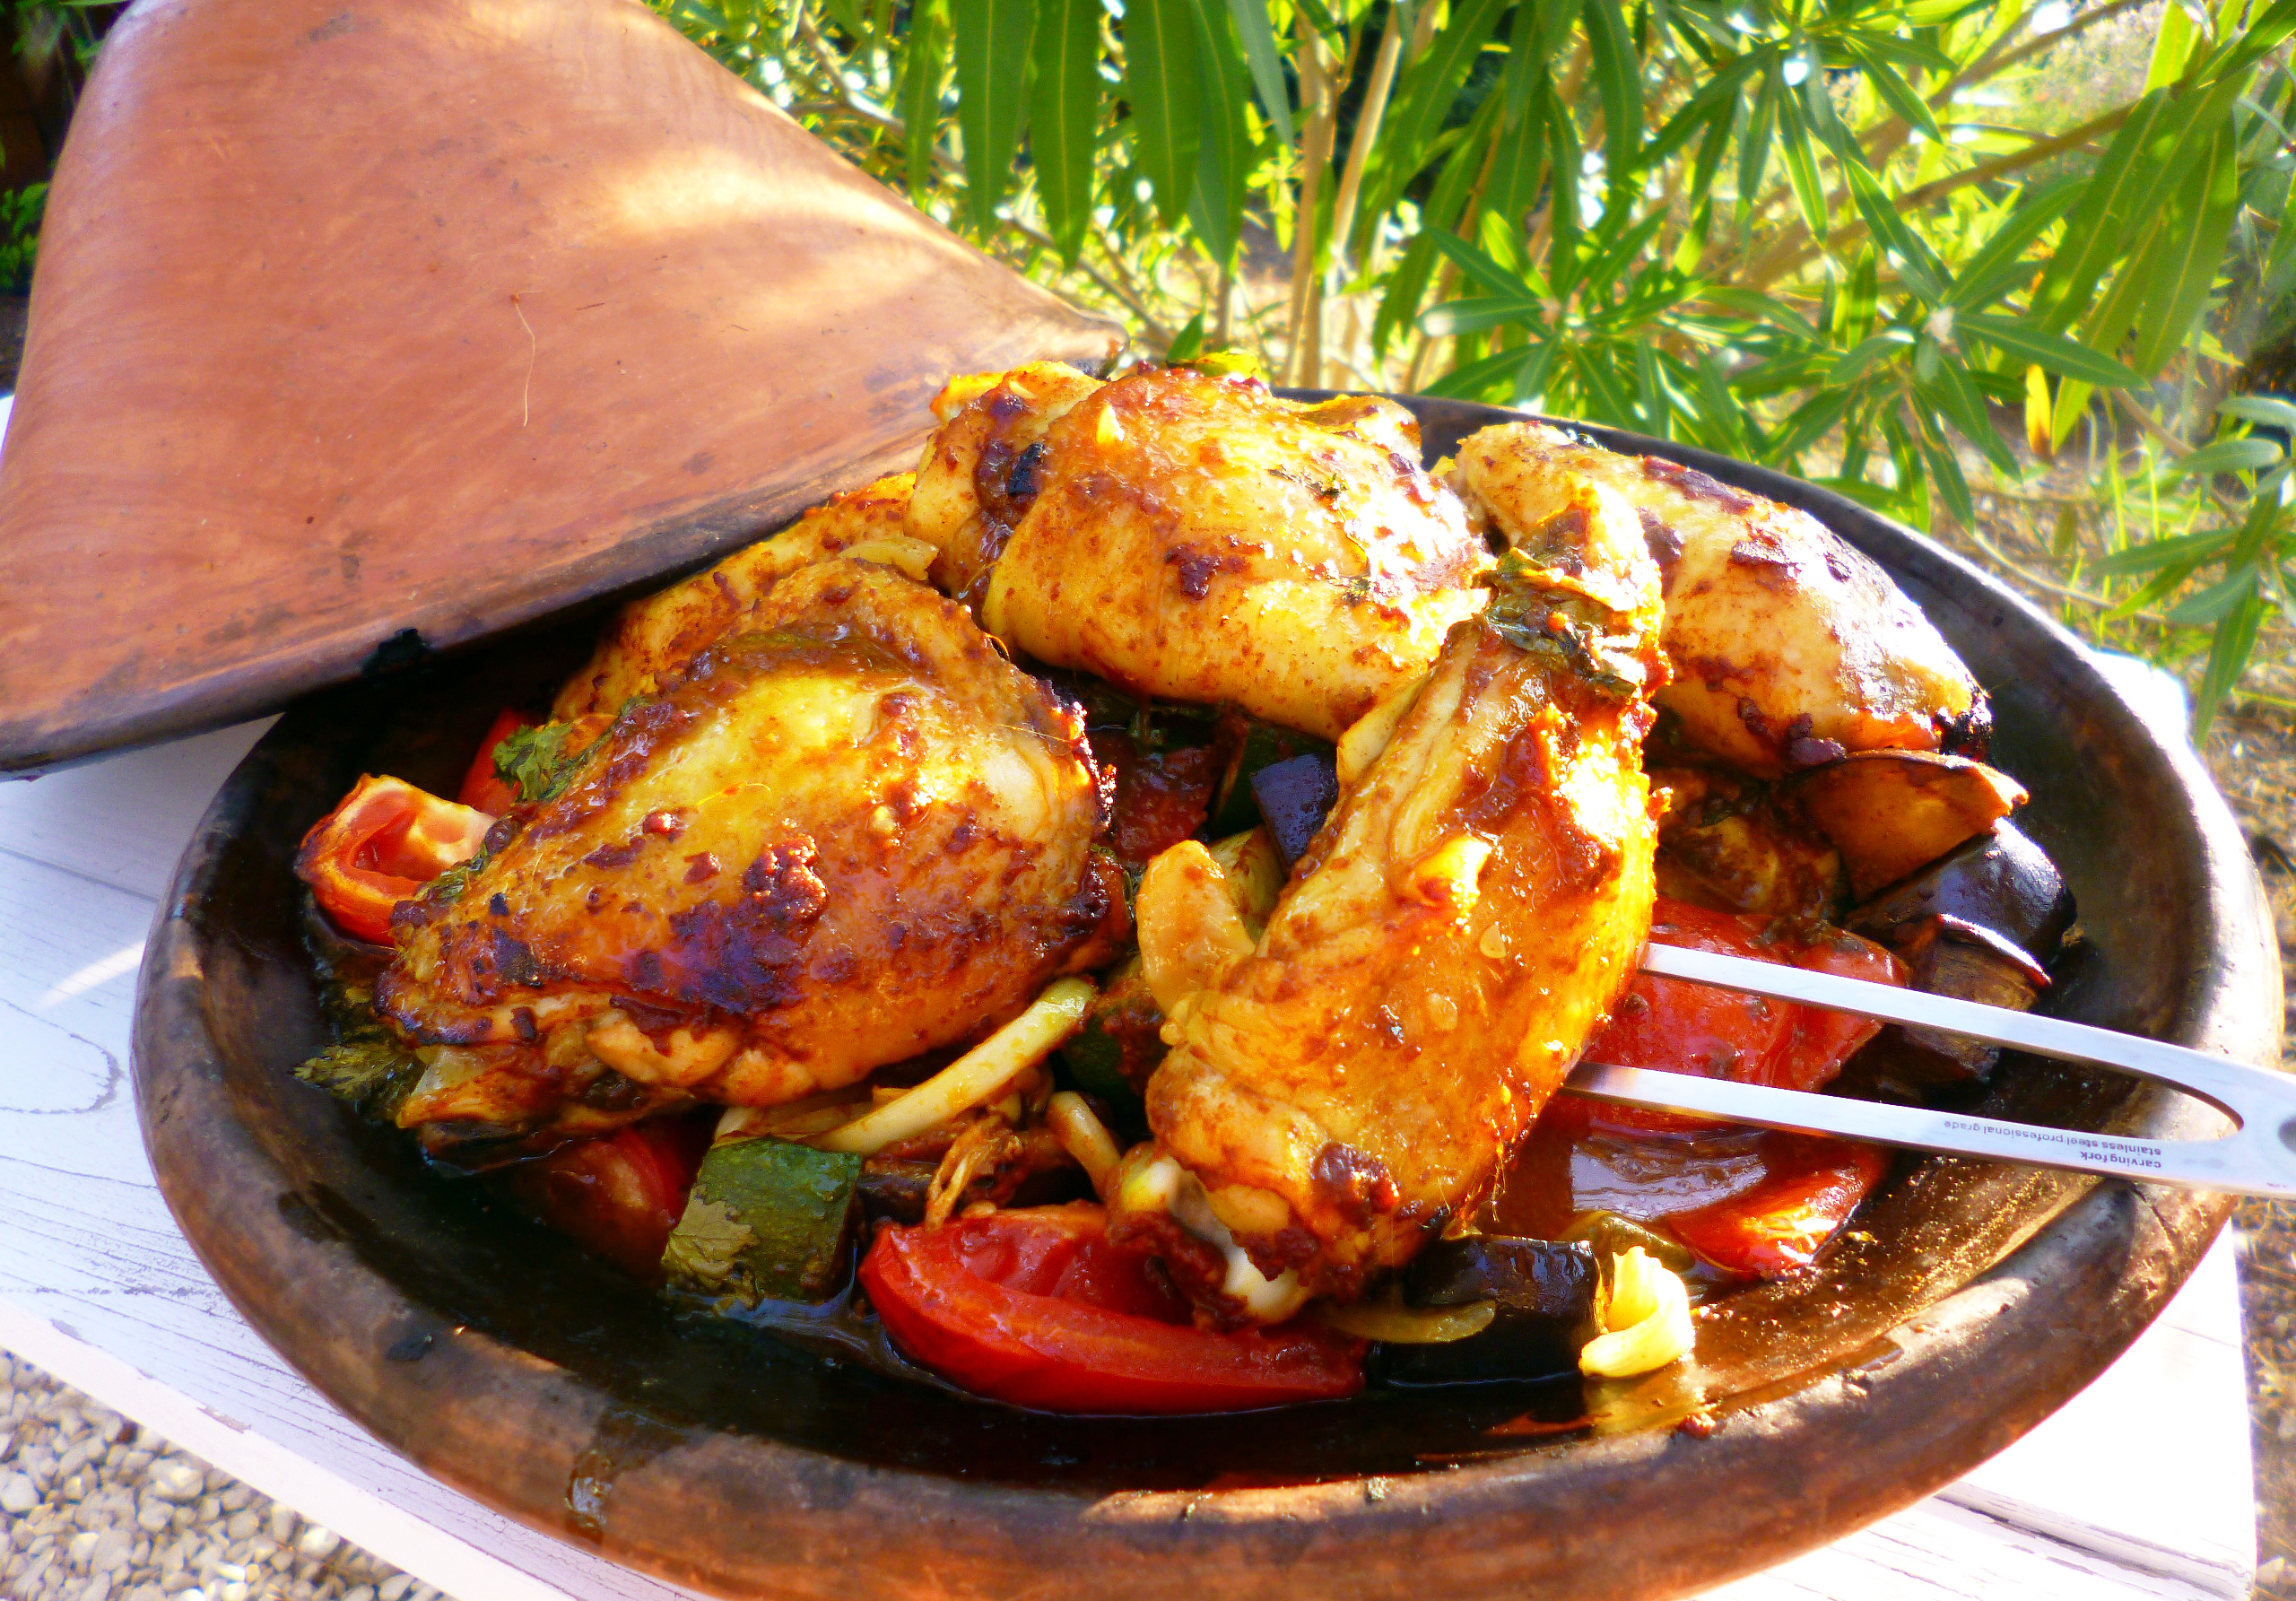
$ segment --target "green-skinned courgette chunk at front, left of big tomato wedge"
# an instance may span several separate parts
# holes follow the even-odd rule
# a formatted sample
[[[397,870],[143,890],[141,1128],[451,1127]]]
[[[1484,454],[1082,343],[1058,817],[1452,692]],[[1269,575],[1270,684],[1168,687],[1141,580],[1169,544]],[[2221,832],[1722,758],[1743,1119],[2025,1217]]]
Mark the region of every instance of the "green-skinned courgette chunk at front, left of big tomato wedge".
[[[760,1300],[829,1300],[845,1282],[861,1158],[788,1139],[712,1146],[661,1252],[677,1289]]]

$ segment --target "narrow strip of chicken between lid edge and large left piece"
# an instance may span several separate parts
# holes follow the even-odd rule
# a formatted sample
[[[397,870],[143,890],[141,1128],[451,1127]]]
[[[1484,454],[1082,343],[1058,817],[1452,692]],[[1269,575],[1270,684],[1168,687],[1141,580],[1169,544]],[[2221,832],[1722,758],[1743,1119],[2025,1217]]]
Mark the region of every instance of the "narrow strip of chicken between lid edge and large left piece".
[[[792,572],[852,554],[925,577],[932,551],[902,535],[914,473],[893,473],[815,505],[769,540],[748,544],[707,572],[622,606],[590,652],[590,664],[558,691],[551,717],[613,717],[703,650],[739,632]]]

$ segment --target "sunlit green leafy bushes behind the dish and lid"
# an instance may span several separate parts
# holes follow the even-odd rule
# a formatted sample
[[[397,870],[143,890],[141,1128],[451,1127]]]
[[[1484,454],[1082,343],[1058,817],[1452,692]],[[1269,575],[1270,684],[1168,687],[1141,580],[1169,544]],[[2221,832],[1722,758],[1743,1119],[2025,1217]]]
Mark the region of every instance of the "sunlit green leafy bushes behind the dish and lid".
[[[2202,719],[2296,620],[2296,0],[654,5],[1150,351],[2009,496]]]

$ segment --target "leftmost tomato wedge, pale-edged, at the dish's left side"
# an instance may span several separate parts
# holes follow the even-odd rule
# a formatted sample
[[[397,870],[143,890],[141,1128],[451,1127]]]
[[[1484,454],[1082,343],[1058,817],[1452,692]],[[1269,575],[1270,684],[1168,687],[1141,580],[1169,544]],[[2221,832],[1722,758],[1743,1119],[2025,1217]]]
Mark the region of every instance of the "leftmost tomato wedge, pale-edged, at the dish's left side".
[[[294,871],[342,933],[390,944],[390,907],[475,857],[489,827],[484,811],[404,779],[360,776],[303,836]]]

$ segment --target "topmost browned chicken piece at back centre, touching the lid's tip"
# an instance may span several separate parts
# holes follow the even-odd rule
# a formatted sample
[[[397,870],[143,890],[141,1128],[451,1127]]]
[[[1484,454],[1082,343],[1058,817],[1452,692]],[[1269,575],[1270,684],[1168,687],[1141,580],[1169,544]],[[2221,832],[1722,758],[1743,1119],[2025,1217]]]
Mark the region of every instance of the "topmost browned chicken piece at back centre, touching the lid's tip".
[[[1327,740],[1428,668],[1490,565],[1401,407],[1182,368],[1008,374],[928,446],[907,528],[1015,650]]]

